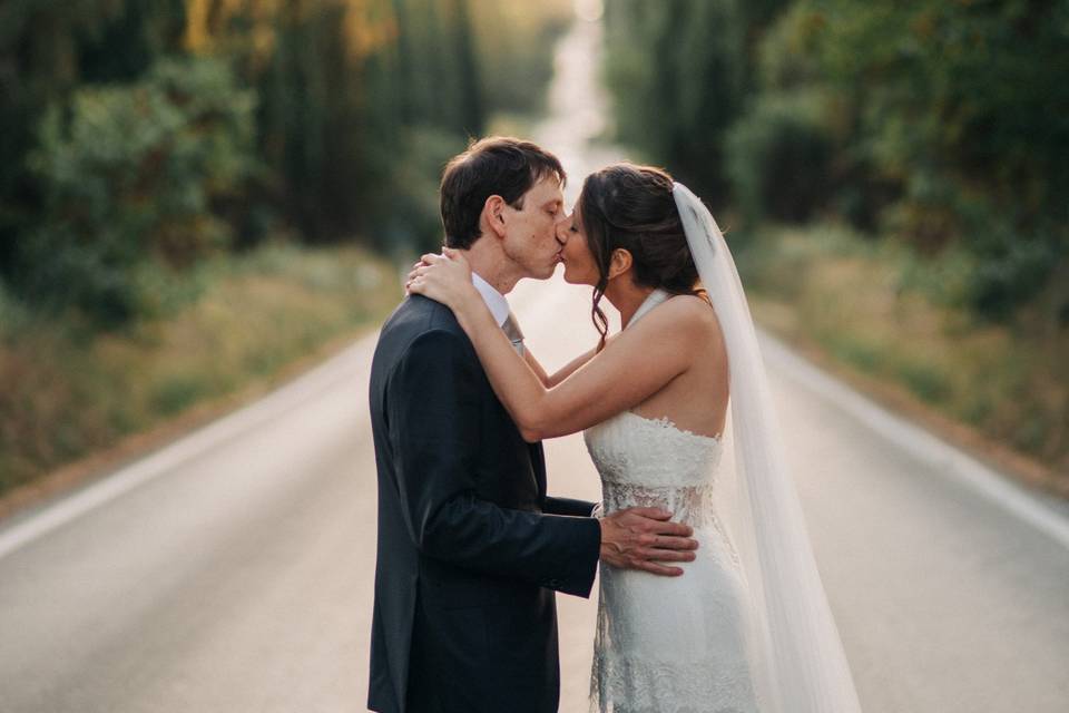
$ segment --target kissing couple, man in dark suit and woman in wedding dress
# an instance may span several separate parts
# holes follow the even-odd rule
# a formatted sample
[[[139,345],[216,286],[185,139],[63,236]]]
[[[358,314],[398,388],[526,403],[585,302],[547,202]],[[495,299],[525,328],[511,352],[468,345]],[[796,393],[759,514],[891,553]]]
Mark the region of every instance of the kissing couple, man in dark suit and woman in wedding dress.
[[[591,710],[859,712],[716,222],[657,168],[587,176],[570,215],[566,179],[530,141],[454,157],[447,247],[379,336],[369,707],[557,711],[556,593],[600,572]],[[504,295],[558,263],[600,338],[548,374]],[[546,492],[541,441],[579,431],[600,504]]]

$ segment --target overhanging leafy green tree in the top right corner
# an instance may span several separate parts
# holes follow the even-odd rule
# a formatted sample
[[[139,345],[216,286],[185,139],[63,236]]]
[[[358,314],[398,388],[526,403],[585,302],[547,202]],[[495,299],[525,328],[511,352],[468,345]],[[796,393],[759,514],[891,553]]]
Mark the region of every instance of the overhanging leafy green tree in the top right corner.
[[[1066,3],[813,3],[825,80],[851,137],[896,186],[883,226],[921,251],[973,255],[968,299],[1008,318],[1069,260]]]

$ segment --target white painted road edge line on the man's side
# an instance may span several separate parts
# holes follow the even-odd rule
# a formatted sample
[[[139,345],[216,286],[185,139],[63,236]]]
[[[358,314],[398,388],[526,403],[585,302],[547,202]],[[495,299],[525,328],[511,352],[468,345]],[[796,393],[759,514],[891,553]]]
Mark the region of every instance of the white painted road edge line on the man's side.
[[[326,363],[298,377],[269,395],[183,437],[164,449],[46,507],[29,519],[0,531],[0,559],[71,520],[115,500],[125,492],[171,471],[177,466],[271,421],[325,389],[352,378],[351,364],[371,363],[377,333],[362,338]]]

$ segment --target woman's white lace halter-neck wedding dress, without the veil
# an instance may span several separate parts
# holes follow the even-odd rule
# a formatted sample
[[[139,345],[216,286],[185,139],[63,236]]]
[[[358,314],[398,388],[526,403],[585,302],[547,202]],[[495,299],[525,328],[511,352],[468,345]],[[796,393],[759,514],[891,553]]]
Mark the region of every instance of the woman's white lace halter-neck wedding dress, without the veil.
[[[656,291],[635,324],[668,299]],[[718,517],[722,439],[630,411],[583,433],[605,512],[663,507],[690,525],[697,558],[681,577],[601,565],[591,709],[612,713],[755,713],[746,649],[746,578]]]

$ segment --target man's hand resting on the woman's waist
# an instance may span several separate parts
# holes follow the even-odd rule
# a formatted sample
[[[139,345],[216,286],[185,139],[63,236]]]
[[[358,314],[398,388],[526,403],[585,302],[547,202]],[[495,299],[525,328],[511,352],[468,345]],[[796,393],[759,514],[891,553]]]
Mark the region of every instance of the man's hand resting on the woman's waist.
[[[694,561],[698,543],[694,529],[671,522],[671,512],[660,508],[628,508],[602,517],[601,561],[614,567],[641,569],[665,577],[678,577],[679,567],[659,563]]]

